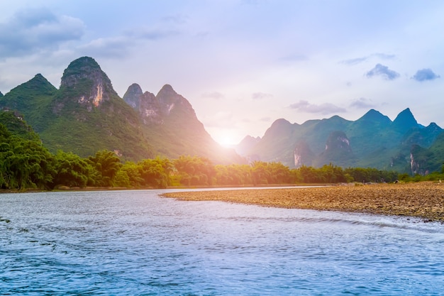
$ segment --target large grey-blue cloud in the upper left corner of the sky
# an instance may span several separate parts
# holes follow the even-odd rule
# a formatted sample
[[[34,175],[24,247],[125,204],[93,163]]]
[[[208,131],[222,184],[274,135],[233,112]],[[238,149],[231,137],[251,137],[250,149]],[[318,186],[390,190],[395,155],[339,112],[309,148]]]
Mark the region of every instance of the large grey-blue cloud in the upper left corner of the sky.
[[[9,22],[0,23],[0,57],[59,48],[62,43],[82,38],[84,31],[78,18],[57,16],[48,9],[23,9]]]

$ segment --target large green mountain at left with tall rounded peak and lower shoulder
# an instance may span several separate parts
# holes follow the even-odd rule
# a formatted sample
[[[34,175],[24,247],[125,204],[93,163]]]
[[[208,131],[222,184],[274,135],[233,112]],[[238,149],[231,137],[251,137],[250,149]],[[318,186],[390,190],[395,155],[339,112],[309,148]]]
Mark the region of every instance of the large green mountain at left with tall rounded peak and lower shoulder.
[[[5,94],[0,106],[20,111],[53,153],[64,150],[87,157],[108,149],[125,159],[153,155],[137,114],[91,57],[70,63],[60,89],[35,75]]]

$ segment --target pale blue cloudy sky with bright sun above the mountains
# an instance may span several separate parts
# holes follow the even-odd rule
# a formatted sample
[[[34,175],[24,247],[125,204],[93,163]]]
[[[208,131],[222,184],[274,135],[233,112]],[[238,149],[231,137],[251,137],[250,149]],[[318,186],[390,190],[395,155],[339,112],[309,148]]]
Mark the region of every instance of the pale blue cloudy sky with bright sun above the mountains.
[[[0,0],[0,92],[94,57],[118,94],[165,84],[224,145],[376,109],[444,128],[444,1]]]

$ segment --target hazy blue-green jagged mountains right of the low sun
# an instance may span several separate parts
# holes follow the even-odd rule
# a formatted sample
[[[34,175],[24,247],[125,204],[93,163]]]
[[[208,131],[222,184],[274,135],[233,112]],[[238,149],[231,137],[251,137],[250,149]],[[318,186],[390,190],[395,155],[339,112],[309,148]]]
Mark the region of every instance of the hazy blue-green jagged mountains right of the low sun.
[[[370,109],[356,121],[333,116],[291,124],[277,119],[248,151],[238,151],[245,157],[255,155],[262,161],[280,161],[290,168],[333,163],[345,168],[371,167],[415,173],[412,158],[415,153],[424,155],[417,146],[431,148],[442,131],[434,123],[418,124],[410,109],[401,111],[394,121]],[[429,168],[436,165],[428,164],[421,172],[430,171]]]

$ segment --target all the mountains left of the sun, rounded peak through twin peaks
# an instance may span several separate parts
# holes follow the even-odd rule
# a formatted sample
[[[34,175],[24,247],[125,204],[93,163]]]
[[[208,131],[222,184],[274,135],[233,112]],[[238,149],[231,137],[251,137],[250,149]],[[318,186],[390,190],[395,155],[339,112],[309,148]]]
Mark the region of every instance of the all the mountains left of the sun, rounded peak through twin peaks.
[[[155,96],[133,84],[122,99],[91,57],[71,62],[59,89],[38,74],[0,95],[0,108],[23,114],[53,153],[87,157],[108,149],[125,160],[199,155],[214,163],[244,161],[213,141],[191,104],[170,85]]]

